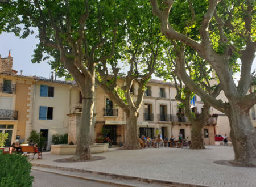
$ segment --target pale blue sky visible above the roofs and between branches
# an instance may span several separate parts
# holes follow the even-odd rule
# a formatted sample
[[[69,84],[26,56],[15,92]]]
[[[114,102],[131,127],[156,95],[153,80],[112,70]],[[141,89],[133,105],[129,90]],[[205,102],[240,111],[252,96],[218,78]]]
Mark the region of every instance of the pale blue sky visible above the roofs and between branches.
[[[11,56],[13,57],[13,69],[18,71],[18,74],[20,74],[20,70],[22,70],[22,75],[36,75],[50,78],[52,70],[51,66],[48,65],[46,61],[41,63],[31,62],[36,44],[39,44],[39,39],[36,38],[36,34],[30,35],[26,39],[20,39],[13,33],[3,32],[0,35],[0,55],[2,58],[6,58],[8,57],[9,50],[11,50]],[[256,58],[254,59],[251,70],[256,70]],[[238,81],[239,77],[240,74],[236,74],[235,82]],[[155,76],[152,76],[152,78],[159,79]],[[64,78],[57,78],[57,80],[64,80]]]

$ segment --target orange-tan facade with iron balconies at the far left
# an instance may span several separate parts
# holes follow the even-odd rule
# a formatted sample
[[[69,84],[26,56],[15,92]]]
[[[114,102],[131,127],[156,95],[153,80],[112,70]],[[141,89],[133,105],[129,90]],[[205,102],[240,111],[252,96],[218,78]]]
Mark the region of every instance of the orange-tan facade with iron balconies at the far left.
[[[26,129],[32,112],[30,96],[33,80],[24,76],[0,74],[0,83],[6,81],[10,84],[8,83],[7,87],[1,85],[0,91],[0,125],[6,125],[6,129],[0,128],[0,131],[11,135],[11,139],[7,141],[7,145],[10,146],[10,142],[13,143],[15,139],[19,139],[20,142],[27,139]],[[10,128],[11,125],[13,128]]]

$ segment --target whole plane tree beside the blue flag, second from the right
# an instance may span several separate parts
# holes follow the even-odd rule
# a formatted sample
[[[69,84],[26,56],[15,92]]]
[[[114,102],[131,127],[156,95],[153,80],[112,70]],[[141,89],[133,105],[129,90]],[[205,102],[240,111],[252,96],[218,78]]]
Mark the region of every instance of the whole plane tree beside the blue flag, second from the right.
[[[179,107],[184,108],[185,116],[191,122],[191,149],[204,149],[204,139],[202,130],[210,117],[210,104],[203,100],[203,111],[199,113],[192,112],[191,110],[191,100],[195,97],[193,93],[187,86],[185,86],[179,76],[176,75],[177,63],[179,63],[176,58],[176,54],[179,53],[181,45],[177,45],[172,42],[172,45],[164,46],[164,56],[162,61],[158,64],[156,69],[156,75],[163,78],[164,80],[171,80],[175,83],[175,88],[177,95],[175,99],[180,101]],[[185,68],[189,76],[194,82],[197,83],[205,92],[207,92],[212,97],[216,98],[220,93],[220,85],[217,85],[216,78],[212,78],[210,74],[212,73],[212,67],[209,66],[207,62],[201,59],[194,50],[190,48],[185,48],[183,45],[183,50],[185,52],[186,61]],[[213,84],[213,81],[215,84]]]

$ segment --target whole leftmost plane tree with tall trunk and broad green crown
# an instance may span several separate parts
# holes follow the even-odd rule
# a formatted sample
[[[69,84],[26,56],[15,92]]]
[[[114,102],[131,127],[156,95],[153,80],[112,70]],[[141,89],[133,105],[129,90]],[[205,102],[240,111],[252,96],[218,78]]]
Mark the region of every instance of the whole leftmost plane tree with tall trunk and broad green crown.
[[[60,74],[70,73],[81,89],[81,125],[74,160],[91,158],[95,69],[112,58],[115,44],[122,38],[124,7],[125,2],[118,0],[19,0],[0,5],[0,31],[25,38],[38,29],[40,43],[33,61],[48,59]]]

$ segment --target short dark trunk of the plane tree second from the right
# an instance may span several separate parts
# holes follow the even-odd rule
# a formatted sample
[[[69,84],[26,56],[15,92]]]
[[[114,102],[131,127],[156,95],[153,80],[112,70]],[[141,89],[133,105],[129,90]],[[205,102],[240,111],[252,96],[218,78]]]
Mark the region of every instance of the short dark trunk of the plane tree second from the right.
[[[203,123],[201,120],[195,120],[191,122],[191,146],[193,150],[204,149],[204,139],[203,139]]]

